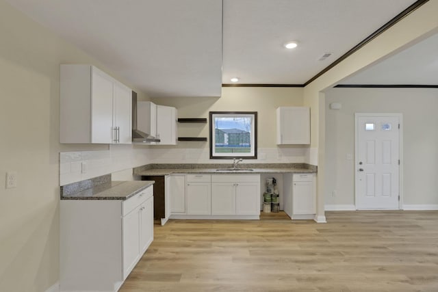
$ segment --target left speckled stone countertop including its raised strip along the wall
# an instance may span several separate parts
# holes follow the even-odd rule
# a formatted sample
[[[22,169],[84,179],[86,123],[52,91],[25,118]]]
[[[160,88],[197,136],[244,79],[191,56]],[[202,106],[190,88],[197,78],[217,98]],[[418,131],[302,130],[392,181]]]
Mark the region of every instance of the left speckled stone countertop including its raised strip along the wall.
[[[61,187],[61,200],[126,200],[155,183],[155,181],[111,181],[111,179],[108,181],[103,176],[99,178],[97,182],[87,180]]]

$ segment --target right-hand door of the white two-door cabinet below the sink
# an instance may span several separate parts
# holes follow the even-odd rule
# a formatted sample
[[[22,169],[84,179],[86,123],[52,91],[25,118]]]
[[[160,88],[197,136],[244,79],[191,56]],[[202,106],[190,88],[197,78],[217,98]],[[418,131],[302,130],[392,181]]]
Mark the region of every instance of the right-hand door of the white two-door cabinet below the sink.
[[[235,191],[235,201],[237,215],[259,215],[259,183],[237,183]]]

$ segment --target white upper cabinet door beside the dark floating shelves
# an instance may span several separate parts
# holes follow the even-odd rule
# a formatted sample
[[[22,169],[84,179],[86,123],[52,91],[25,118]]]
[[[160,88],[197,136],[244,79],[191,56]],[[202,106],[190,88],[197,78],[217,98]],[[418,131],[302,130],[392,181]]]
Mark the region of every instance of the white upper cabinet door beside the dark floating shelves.
[[[157,137],[159,145],[177,144],[177,110],[175,107],[157,105]]]

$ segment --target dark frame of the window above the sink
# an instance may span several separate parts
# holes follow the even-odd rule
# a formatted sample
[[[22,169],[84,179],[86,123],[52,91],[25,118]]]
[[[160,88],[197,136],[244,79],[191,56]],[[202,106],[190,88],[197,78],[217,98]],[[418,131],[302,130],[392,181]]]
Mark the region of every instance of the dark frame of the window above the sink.
[[[235,118],[235,116],[250,116],[251,117],[251,132],[250,132],[250,153],[249,155],[230,155],[233,153],[218,154],[216,149],[216,131],[214,118]],[[257,159],[257,111],[209,111],[209,148],[210,159]]]

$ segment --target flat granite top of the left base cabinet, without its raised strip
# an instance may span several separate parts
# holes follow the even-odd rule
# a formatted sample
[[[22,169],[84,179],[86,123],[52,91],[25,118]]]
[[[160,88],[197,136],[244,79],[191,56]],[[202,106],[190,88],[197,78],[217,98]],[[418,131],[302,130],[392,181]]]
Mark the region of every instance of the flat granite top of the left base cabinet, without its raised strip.
[[[126,200],[154,183],[155,181],[109,181],[88,189],[62,191],[61,200]]]

